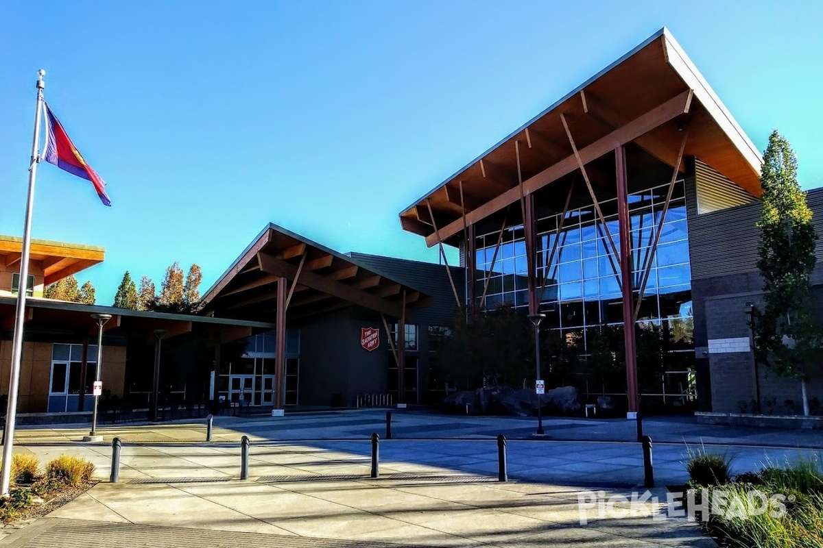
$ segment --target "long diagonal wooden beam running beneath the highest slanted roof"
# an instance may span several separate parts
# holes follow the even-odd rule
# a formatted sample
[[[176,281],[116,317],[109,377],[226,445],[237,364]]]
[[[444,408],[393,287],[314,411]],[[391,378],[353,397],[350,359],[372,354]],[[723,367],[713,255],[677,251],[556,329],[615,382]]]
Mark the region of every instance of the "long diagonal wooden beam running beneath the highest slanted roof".
[[[659,127],[664,122],[668,122],[673,118],[680,116],[683,113],[689,112],[691,103],[692,91],[686,90],[681,94],[667,100],[665,103],[658,105],[649,112],[636,117],[625,126],[611,131],[606,136],[594,141],[591,145],[579,150],[580,158],[584,163],[589,163],[594,159],[600,158],[604,154],[610,153],[614,150],[616,143],[630,143],[655,127]],[[572,173],[578,169],[577,159],[574,154],[570,154],[560,162],[555,163],[542,172],[537,173],[533,177],[528,178],[523,182],[523,187],[529,192],[537,191],[545,187],[551,182],[555,182],[560,177]],[[503,209],[506,205],[511,205],[519,199],[519,190],[517,188],[509,189],[500,196],[493,198],[486,202],[486,204],[473,210],[466,215],[468,223],[477,223],[481,219],[485,219],[489,215]],[[446,240],[459,233],[463,228],[463,219],[456,219],[452,223],[447,224],[437,233],[432,233],[425,238],[427,246],[434,246],[438,241]]]

